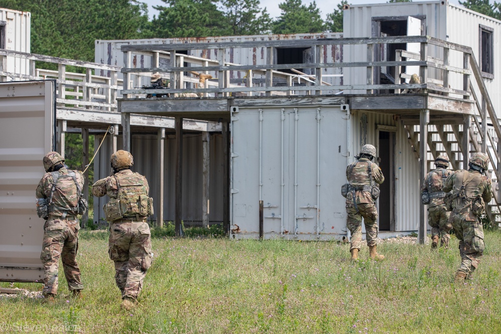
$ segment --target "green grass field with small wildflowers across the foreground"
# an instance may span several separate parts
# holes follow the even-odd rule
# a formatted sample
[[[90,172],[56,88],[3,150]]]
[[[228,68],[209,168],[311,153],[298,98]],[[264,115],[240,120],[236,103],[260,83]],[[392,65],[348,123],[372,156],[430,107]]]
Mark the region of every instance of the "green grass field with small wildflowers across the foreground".
[[[120,308],[104,233],[81,235],[83,298],[59,277],[55,302],[0,299],[0,332],[500,333],[501,233],[471,280],[452,283],[451,249],[383,242],[382,262],[349,245],[284,240],[153,239],[154,262],[137,308]],[[62,273],[62,271],[60,271]],[[0,283],[8,287],[9,283]],[[15,286],[41,290],[41,284]]]

